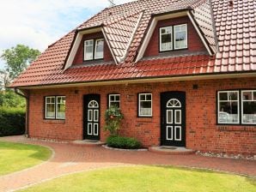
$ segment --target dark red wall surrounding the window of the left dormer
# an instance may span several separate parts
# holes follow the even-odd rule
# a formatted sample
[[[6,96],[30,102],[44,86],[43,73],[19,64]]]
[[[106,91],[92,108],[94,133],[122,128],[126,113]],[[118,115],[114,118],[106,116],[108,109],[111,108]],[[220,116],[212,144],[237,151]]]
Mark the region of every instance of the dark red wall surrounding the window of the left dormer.
[[[84,61],[84,41],[89,39],[104,39],[104,35],[101,32],[84,34],[82,36],[82,40],[78,47],[78,50],[76,51],[76,56],[74,58],[72,65],[90,64],[94,62],[94,61]],[[111,61],[113,61],[113,57],[112,57],[111,51],[107,46],[106,40],[104,39],[103,59],[100,60],[100,63],[106,63]]]

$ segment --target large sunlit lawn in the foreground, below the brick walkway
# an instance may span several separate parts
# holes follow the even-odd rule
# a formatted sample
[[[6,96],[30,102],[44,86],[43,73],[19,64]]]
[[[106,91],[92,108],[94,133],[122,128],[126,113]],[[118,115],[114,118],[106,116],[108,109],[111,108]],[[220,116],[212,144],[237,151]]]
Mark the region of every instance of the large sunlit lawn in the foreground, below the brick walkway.
[[[256,180],[219,172],[170,166],[131,166],[75,173],[21,191],[253,192],[256,191]]]

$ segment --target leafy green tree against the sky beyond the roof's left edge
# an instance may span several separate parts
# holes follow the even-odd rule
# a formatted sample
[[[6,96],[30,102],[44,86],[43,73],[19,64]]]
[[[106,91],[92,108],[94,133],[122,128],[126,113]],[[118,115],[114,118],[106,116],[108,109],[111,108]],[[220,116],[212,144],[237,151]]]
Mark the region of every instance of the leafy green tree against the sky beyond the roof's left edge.
[[[21,74],[40,55],[39,50],[34,50],[26,45],[16,45],[4,50],[1,58],[5,61],[5,71],[9,73],[10,80]]]

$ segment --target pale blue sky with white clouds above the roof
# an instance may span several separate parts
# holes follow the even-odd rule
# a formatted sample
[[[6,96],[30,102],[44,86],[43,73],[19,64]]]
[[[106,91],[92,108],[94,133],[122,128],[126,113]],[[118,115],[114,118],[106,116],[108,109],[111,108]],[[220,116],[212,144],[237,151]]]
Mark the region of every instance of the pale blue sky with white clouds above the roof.
[[[115,4],[131,1],[113,0]],[[0,0],[0,55],[17,44],[45,51],[109,4],[107,0]]]

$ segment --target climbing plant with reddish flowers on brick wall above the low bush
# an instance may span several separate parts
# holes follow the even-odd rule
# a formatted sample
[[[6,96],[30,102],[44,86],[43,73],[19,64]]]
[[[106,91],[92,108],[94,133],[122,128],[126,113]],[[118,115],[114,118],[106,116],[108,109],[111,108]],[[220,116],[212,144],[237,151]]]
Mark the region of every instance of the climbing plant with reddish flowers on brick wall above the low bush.
[[[124,115],[117,105],[111,105],[105,112],[105,130],[110,132],[110,135],[118,135],[120,124]]]

